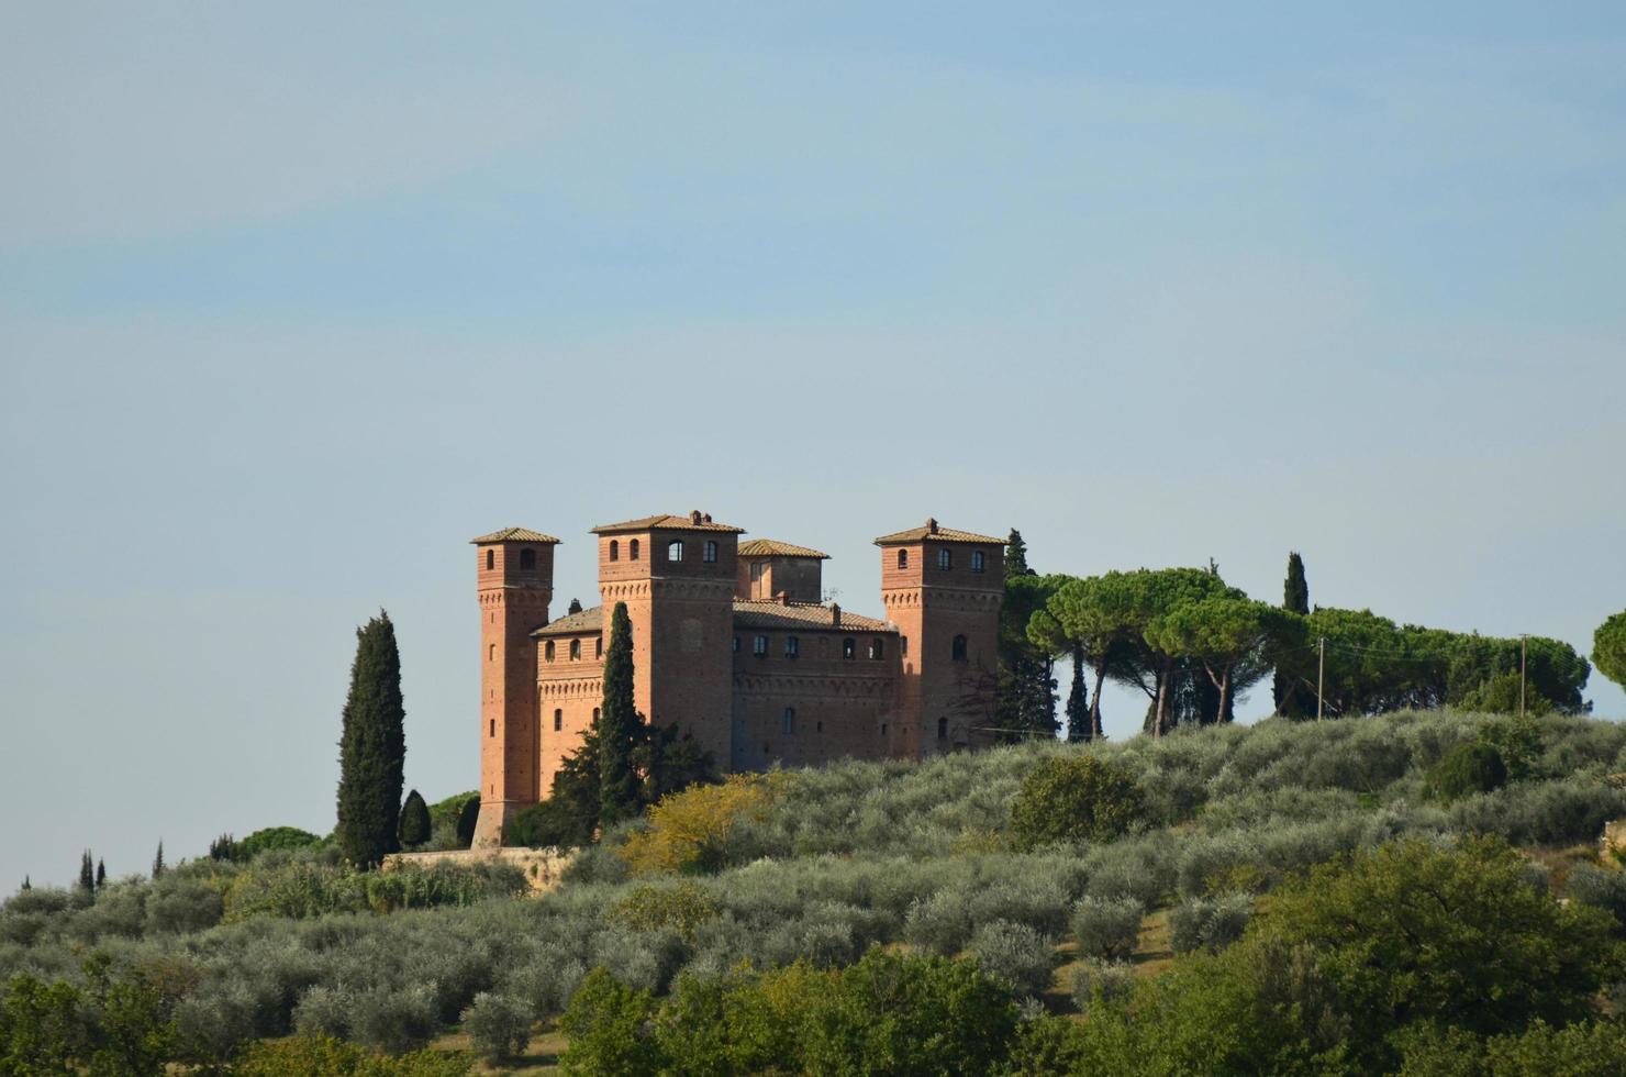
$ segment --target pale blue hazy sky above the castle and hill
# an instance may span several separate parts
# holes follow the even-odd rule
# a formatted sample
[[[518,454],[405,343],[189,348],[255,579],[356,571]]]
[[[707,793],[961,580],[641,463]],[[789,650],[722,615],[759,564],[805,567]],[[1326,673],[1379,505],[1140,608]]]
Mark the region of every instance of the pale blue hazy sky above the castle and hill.
[[[21,2],[0,99],[0,892],[327,833],[379,608],[406,784],[475,787],[507,525],[561,610],[689,509],[868,613],[927,516],[1626,607],[1613,2]]]

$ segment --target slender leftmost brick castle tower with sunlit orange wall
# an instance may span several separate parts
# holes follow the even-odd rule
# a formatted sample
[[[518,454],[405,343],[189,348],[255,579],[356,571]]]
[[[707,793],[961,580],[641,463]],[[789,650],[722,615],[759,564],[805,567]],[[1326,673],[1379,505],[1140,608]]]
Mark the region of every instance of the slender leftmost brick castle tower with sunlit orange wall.
[[[538,800],[537,641],[553,599],[558,538],[509,527],[473,540],[480,591],[480,822],[476,846]]]

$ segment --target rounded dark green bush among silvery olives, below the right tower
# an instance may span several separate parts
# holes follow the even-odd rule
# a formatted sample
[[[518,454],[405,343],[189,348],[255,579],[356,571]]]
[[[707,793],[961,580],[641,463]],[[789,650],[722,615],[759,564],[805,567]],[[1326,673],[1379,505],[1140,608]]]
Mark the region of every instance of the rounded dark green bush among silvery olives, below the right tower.
[[[1111,841],[1141,817],[1135,776],[1094,755],[1049,758],[1028,771],[1011,802],[1011,835],[1023,849],[1059,841]]]

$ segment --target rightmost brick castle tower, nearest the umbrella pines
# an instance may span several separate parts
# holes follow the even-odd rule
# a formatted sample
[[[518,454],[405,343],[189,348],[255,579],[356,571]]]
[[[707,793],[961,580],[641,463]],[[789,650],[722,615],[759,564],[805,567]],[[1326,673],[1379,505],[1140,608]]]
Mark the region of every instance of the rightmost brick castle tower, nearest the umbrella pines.
[[[902,636],[888,752],[922,758],[992,743],[1005,540],[928,519],[875,545],[886,620]]]

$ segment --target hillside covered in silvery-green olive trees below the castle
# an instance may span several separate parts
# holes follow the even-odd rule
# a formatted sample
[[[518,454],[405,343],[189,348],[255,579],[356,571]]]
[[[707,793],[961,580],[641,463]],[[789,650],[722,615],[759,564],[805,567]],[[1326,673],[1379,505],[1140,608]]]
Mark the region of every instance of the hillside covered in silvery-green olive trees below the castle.
[[[1441,781],[1431,770],[1460,745],[1489,745],[1506,784],[1455,799],[1429,796],[1429,783]],[[1133,779],[1130,828],[1109,839],[1024,848],[1031,843],[1011,828],[1024,778],[1047,760],[1085,755]],[[392,880],[356,875],[330,852],[312,851],[272,851],[246,867],[195,861],[156,882],[111,883],[93,903],[67,892],[24,892],[0,909],[0,978],[85,983],[86,953],[102,953],[114,978],[153,988],[158,1005],[172,1014],[176,1056],[226,1061],[250,1040],[291,1031],[410,1051],[459,1025],[481,992],[489,994],[472,1012],[476,1038],[533,1022],[541,1022],[540,1033],[595,968],[655,997],[680,981],[733,984],[738,994],[741,968],[806,961],[806,975],[815,975],[854,966],[878,945],[977,960],[1005,999],[980,1010],[1034,996],[1037,1004],[1011,1010],[1023,1036],[1050,1028],[1036,1023],[1049,1010],[1072,1028],[1120,1022],[1120,1038],[1130,1043],[1128,1014],[1138,1010],[1111,1017],[1111,1007],[1169,1001],[1137,994],[1120,983],[1125,976],[1176,984],[1159,988],[1169,992],[1192,976],[1220,983],[1239,975],[1223,965],[1228,952],[1242,952],[1231,944],[1263,934],[1259,926],[1275,916],[1278,892],[1307,893],[1302,875],[1312,866],[1384,846],[1413,849],[1405,856],[1423,857],[1419,872],[1431,870],[1434,851],[1483,856],[1481,875],[1494,879],[1502,870],[1494,848],[1468,841],[1493,836],[1524,851],[1519,887],[1540,895],[1541,916],[1606,909],[1603,919],[1587,921],[1605,961],[1587,975],[1603,978],[1597,997],[1606,999],[1608,984],[1626,983],[1611,942],[1626,924],[1626,882],[1618,867],[1595,861],[1603,823],[1626,817],[1623,773],[1619,724],[1548,716],[1520,727],[1449,713],[1267,721],[1096,747],[842,763],[681,794],[657,809],[654,830],[647,822],[623,826],[582,851],[567,882],[540,900],[509,896],[522,880],[502,869],[398,872]],[[680,831],[706,839],[688,841]],[[629,859],[642,874],[633,874]],[[1332,885],[1328,879],[1322,883]],[[1556,896],[1572,901],[1559,905]],[[1281,908],[1286,924],[1293,900]],[[1164,942],[1193,953],[1159,952]],[[1127,968],[1085,961],[1086,948],[1133,960]],[[1335,966],[1330,957],[1324,963]],[[1083,988],[1075,997],[1078,973]],[[587,983],[606,989],[602,978]],[[600,994],[592,994],[598,1018],[615,1009]],[[587,1035],[580,1030],[593,1025],[582,1023],[590,1017],[582,997],[571,1027]],[[730,1005],[715,1002],[707,1012],[725,1023]],[[1585,1005],[1595,1005],[1592,992]],[[1587,1035],[1618,1028],[1608,1023],[1610,1005],[1598,1010],[1605,1023],[1597,1028],[1605,1031],[1589,1023]],[[1091,1009],[1088,1018],[1080,1018],[1081,1007]],[[1343,1010],[1328,1002],[1333,1012]],[[1532,1012],[1550,1015],[1553,1027],[1576,1014]],[[685,1018],[685,1027],[704,1023]],[[1371,1044],[1359,1041],[1359,1027],[1338,1035],[1346,1043],[1317,1048],[1322,1054],[1309,1069],[1332,1072],[1379,1057],[1363,1056]],[[1076,1051],[1055,1059],[1085,1057]],[[1397,1051],[1384,1057],[1398,1059]],[[1177,1069],[1166,1062],[1140,1066]]]

